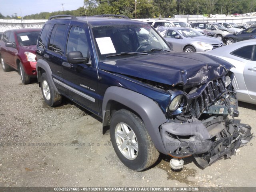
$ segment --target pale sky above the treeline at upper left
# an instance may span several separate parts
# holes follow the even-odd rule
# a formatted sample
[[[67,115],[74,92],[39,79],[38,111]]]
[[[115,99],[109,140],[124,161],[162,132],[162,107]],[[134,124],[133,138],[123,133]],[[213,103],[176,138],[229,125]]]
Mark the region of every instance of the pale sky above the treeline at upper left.
[[[62,10],[76,10],[84,5],[84,0],[0,0],[0,13],[4,16],[37,14]],[[21,11],[20,11],[21,10]]]

